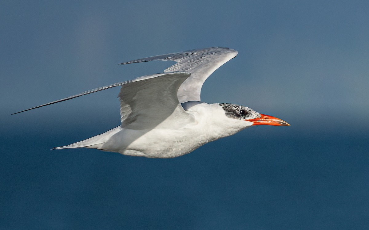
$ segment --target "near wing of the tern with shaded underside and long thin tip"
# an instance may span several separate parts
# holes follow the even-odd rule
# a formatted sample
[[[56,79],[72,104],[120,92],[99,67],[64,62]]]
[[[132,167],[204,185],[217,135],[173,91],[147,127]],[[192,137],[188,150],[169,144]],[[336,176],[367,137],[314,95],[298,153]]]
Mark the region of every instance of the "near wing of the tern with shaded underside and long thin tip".
[[[146,75],[131,81],[118,82],[100,88],[91,89],[68,98],[55,100],[17,113],[70,100],[104,89],[122,86],[119,93],[121,101],[122,127],[129,126],[129,128],[132,129],[154,128],[164,120],[170,121],[170,118],[168,117],[171,115],[176,116],[178,120],[173,119],[173,123],[168,122],[163,123],[163,125],[167,124],[175,126],[176,122],[183,122],[190,119],[177,98],[179,86],[190,75],[191,74],[189,72],[166,72]]]

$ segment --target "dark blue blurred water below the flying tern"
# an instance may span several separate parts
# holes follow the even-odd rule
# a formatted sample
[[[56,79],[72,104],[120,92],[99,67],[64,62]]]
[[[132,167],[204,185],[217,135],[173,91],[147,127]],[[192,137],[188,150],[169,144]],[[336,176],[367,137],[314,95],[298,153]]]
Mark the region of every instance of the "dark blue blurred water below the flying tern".
[[[2,133],[1,228],[368,227],[368,130],[291,123],[251,127],[173,159],[49,150],[96,128]]]

